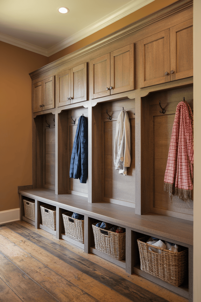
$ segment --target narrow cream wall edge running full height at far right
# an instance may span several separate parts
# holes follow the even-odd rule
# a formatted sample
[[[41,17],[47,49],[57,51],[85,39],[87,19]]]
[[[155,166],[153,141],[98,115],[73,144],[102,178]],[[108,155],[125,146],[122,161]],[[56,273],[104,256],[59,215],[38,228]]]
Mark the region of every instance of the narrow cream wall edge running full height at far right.
[[[194,224],[193,302],[201,301],[201,1],[193,2]]]

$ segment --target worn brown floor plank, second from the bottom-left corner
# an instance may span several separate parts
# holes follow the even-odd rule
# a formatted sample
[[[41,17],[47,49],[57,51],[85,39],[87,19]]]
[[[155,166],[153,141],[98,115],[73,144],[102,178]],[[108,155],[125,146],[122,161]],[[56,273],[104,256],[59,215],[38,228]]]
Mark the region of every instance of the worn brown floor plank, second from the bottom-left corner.
[[[0,252],[0,277],[23,301],[58,302]],[[14,302],[11,300],[10,302]]]

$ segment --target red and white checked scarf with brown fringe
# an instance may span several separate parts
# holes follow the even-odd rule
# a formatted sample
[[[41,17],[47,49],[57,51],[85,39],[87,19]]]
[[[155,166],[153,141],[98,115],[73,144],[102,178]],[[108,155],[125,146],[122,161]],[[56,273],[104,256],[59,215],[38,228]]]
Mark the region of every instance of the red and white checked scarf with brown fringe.
[[[189,202],[193,199],[193,114],[189,104],[177,105],[168,161],[165,170],[164,191]]]

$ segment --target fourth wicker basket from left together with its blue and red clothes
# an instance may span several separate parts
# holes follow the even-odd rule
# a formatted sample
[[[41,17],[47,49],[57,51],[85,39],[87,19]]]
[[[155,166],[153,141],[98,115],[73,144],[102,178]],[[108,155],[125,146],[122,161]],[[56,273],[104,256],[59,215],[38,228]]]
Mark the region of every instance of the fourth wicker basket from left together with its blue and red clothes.
[[[95,249],[117,260],[126,256],[126,230],[120,226],[99,221],[92,224]]]

